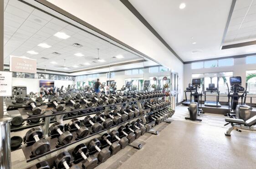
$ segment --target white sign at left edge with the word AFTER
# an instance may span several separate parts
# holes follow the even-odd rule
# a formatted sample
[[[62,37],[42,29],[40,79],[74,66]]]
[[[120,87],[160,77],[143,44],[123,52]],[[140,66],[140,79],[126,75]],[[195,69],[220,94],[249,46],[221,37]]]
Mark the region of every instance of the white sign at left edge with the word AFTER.
[[[0,96],[11,96],[12,72],[0,71]]]

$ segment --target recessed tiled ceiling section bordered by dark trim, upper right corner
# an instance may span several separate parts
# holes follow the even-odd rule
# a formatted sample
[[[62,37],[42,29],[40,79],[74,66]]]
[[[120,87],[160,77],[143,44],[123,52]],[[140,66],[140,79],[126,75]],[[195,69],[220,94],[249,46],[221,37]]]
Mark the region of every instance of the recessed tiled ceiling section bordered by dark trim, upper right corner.
[[[224,45],[253,40],[256,40],[256,0],[236,0]]]

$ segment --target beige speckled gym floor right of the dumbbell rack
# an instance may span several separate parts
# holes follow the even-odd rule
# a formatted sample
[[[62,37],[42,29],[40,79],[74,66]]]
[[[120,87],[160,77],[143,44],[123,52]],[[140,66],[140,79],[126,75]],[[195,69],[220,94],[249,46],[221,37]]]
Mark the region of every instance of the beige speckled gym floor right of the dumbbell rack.
[[[159,124],[159,135],[146,133],[138,150],[122,149],[97,169],[255,169],[256,132],[224,135],[225,117],[202,114],[202,122],[184,120],[186,106],[176,107],[171,124]]]

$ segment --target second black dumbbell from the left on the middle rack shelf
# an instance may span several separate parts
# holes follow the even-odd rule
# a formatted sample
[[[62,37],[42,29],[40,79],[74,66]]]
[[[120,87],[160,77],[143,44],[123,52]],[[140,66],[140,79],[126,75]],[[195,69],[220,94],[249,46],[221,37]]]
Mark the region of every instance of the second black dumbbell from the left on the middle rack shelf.
[[[61,145],[69,144],[72,141],[73,135],[69,131],[62,132],[64,129],[64,126],[60,124],[59,122],[56,122],[51,125],[49,128],[49,131],[52,135],[54,134],[60,134],[58,137],[58,141]]]

